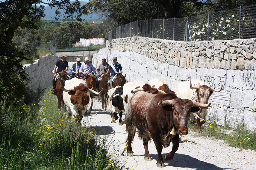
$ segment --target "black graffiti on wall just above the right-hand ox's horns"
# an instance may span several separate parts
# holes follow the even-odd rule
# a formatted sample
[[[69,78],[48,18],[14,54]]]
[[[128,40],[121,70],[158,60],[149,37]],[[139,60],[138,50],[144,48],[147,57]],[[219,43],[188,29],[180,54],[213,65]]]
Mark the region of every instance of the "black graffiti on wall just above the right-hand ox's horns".
[[[219,88],[223,85],[222,89],[224,89],[226,84],[226,74],[222,76],[211,76],[211,75],[201,75],[200,79],[205,82],[205,85],[210,86],[212,88]]]

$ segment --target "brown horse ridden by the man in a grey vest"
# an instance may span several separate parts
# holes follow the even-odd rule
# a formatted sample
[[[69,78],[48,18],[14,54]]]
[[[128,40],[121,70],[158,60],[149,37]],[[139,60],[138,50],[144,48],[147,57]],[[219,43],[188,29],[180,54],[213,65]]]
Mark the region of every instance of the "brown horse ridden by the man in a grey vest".
[[[107,73],[106,70],[104,70],[104,75],[102,77],[102,80],[99,82],[99,90],[102,91],[102,94],[100,95],[101,99],[102,99],[102,109],[103,111],[107,110],[107,91],[109,89],[108,87],[108,81],[110,78],[110,72]]]

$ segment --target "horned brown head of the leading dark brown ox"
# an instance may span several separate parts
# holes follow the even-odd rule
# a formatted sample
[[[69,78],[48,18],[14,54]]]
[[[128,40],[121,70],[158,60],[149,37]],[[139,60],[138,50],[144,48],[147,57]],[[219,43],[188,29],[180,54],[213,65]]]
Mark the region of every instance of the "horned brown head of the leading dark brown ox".
[[[163,109],[170,111],[171,124],[175,132],[179,135],[187,135],[187,123],[190,112],[198,112],[200,108],[208,108],[209,104],[203,104],[188,99],[174,98],[171,100],[161,101],[157,104]]]

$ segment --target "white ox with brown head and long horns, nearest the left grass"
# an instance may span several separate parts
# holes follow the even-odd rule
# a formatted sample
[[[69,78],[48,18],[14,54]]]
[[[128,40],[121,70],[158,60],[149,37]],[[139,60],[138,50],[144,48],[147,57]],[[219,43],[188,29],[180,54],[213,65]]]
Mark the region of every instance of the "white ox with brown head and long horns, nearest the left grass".
[[[86,81],[78,78],[72,78],[65,81],[63,87],[63,100],[65,105],[69,108],[69,116],[71,114],[77,121],[81,122],[84,113],[87,111],[88,104],[90,102],[90,92],[100,95],[101,92],[95,92],[89,89]]]

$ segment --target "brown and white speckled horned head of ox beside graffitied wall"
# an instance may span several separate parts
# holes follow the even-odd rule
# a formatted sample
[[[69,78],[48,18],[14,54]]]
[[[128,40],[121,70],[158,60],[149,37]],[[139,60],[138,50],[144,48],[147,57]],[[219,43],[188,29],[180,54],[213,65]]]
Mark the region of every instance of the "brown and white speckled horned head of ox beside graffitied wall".
[[[213,92],[220,92],[222,90],[222,85],[218,89],[213,89],[206,85],[199,85],[199,86],[192,86],[190,81],[190,89],[196,89],[197,97],[200,103],[207,104],[210,96],[213,94]],[[193,98],[192,98],[193,100]]]

